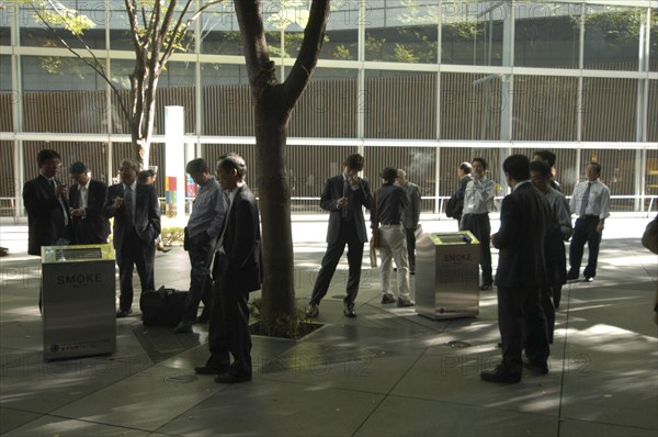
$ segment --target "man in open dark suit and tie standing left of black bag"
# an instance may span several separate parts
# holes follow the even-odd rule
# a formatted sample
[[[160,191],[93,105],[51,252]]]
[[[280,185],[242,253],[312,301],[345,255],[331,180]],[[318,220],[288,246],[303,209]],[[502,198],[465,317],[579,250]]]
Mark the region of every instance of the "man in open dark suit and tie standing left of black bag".
[[[137,183],[140,164],[121,163],[121,183],[107,189],[103,212],[114,217],[113,244],[118,265],[121,295],[116,317],[133,313],[133,268],[137,266],[141,292],[155,290],[156,237],[160,234],[160,203],[152,186]]]

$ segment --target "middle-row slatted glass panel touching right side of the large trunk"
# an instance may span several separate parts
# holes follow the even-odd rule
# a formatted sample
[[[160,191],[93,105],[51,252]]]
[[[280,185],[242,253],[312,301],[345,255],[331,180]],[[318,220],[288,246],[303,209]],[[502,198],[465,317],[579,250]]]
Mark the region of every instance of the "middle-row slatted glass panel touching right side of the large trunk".
[[[353,138],[356,136],[358,71],[316,68],[295,104],[288,135],[297,137]]]

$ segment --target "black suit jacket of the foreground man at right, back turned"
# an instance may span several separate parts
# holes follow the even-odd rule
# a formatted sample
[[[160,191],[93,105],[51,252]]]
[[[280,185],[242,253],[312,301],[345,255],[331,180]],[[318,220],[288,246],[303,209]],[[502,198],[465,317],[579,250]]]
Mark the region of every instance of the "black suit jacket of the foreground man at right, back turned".
[[[547,283],[544,235],[549,220],[546,198],[530,182],[502,200],[500,231],[491,237],[500,250],[496,285],[536,289]]]

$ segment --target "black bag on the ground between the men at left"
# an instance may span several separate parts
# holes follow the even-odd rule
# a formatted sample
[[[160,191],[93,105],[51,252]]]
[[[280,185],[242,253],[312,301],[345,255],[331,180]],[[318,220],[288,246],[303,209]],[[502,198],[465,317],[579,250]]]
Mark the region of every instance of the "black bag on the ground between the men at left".
[[[183,317],[186,291],[166,289],[149,290],[141,293],[139,307],[141,323],[146,326],[174,327]]]

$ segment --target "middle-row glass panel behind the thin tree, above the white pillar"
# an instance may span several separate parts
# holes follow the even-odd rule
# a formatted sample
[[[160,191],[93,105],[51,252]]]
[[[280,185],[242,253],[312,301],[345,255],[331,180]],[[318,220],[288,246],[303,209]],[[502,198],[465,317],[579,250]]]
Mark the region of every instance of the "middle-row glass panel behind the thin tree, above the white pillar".
[[[112,60],[112,81],[120,89],[124,108],[129,109],[129,79],[134,61],[127,59]],[[185,113],[185,133],[195,131],[195,68],[194,63],[169,61],[167,69],[160,75],[156,91],[156,114],[154,134],[164,134],[164,107],[183,107]],[[112,133],[131,133],[128,119],[118,103],[117,96],[112,94]]]

